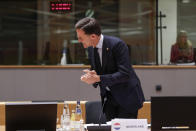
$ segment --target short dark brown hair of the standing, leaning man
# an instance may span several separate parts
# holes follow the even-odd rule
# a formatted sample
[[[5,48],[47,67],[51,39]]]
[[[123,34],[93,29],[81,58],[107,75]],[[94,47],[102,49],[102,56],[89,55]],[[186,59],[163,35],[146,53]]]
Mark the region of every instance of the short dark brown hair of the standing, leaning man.
[[[76,25],[76,29],[81,29],[85,32],[85,34],[96,34],[98,36],[101,35],[101,26],[94,18],[83,18],[79,20]]]

